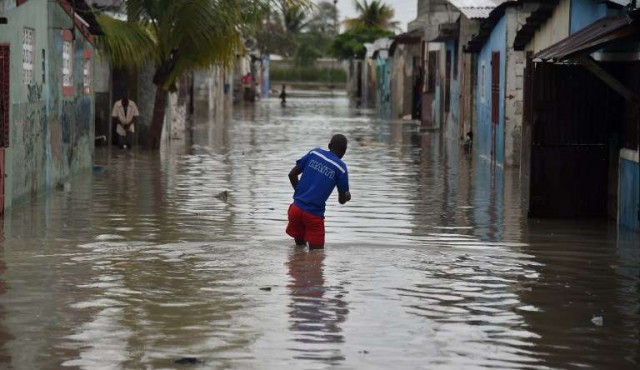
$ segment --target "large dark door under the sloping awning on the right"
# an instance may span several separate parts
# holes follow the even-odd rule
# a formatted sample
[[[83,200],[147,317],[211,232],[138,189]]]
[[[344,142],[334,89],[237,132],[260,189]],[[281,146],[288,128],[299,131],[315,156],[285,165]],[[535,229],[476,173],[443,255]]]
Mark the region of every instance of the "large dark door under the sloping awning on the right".
[[[536,63],[529,89],[531,217],[605,217],[621,99],[578,65]]]

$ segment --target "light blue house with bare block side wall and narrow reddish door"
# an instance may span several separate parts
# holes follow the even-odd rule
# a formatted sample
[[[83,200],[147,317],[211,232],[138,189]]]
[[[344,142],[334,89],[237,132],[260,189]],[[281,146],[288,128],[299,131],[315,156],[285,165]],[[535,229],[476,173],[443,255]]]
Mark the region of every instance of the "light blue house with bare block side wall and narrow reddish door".
[[[477,53],[474,149],[499,166],[520,166],[525,56],[513,43],[533,7],[500,4],[467,44],[468,52]]]

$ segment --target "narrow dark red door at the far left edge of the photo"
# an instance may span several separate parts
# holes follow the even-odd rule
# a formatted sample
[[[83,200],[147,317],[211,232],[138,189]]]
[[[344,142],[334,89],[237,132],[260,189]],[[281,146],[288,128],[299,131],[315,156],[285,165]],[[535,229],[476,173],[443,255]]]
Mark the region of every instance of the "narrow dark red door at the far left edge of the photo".
[[[4,216],[4,148],[9,146],[9,45],[0,45],[0,216]]]

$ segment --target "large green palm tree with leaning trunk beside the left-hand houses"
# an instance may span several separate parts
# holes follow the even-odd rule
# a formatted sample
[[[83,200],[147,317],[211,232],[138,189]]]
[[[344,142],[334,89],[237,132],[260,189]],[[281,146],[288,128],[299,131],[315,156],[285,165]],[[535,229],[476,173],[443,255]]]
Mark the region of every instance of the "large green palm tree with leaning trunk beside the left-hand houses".
[[[273,0],[125,0],[127,21],[98,17],[98,40],[115,67],[152,63],[157,86],[146,146],[158,149],[167,91],[187,72],[230,66],[244,48],[241,33],[253,27]],[[306,0],[285,0],[292,4]]]

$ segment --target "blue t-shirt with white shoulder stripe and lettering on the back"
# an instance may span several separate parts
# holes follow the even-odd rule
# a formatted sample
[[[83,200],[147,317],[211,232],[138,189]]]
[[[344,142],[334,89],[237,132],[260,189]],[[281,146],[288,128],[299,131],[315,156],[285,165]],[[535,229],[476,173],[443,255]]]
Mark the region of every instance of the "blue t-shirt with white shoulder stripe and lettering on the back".
[[[302,177],[293,193],[293,203],[305,212],[324,217],[333,188],[349,191],[347,165],[330,151],[313,149],[300,158],[296,166],[302,171]]]

